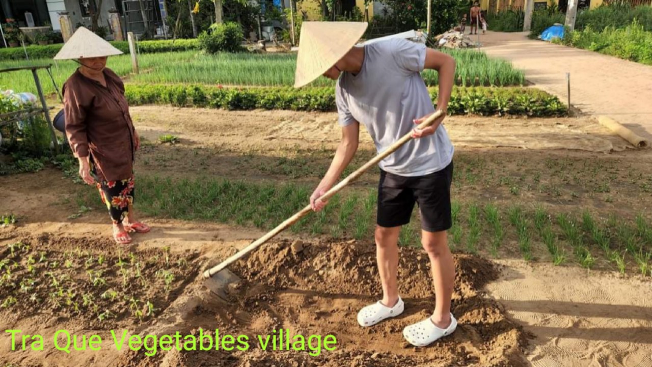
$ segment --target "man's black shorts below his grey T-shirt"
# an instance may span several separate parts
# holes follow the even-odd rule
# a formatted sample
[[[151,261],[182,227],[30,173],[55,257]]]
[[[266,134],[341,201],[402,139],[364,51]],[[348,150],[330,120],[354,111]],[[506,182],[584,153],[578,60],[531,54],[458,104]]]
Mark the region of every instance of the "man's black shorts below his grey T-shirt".
[[[451,228],[451,182],[452,162],[440,171],[417,177],[394,175],[381,169],[376,223],[387,228],[408,224],[417,203],[424,231]]]

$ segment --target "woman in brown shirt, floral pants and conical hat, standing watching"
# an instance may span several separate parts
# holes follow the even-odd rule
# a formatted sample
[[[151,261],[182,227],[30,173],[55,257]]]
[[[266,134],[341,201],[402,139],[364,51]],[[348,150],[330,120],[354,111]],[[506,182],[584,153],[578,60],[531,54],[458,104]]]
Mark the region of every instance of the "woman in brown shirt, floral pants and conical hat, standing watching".
[[[150,228],[134,214],[134,154],[140,138],[125,98],[125,85],[106,59],[123,53],[80,27],[55,60],[74,59],[80,67],[63,85],[66,135],[79,160],[80,176],[95,184],[113,221],[113,239],[128,244],[128,232]]]

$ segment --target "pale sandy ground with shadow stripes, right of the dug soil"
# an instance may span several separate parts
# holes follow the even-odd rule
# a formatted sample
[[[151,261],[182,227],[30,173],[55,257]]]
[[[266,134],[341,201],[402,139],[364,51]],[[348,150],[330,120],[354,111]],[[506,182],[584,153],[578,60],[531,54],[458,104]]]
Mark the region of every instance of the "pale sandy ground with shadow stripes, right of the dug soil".
[[[533,367],[651,367],[649,280],[550,264],[505,265],[486,289],[536,338]]]

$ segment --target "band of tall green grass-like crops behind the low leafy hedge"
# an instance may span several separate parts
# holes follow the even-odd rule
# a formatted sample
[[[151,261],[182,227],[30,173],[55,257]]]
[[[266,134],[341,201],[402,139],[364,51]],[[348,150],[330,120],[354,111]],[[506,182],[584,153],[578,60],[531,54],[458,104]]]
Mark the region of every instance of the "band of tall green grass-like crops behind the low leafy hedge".
[[[455,80],[458,85],[516,86],[525,83],[524,73],[515,70],[507,61],[491,59],[484,52],[477,50],[450,50],[447,52],[457,61]],[[130,75],[132,66],[127,51],[125,55],[110,57],[107,66],[121,77],[129,76],[129,82],[137,83],[290,87],[294,84],[296,57],[292,53],[216,53],[207,55],[198,53],[196,50],[141,53],[138,57],[141,72],[138,75]],[[55,62],[51,56],[48,56],[46,58],[32,57],[30,61],[25,61],[22,57],[19,60],[1,61],[0,68],[47,64],[54,64],[52,74],[59,87],[79,66],[74,61]],[[42,80],[44,92],[55,93],[46,70],[40,70],[38,75]],[[426,70],[422,75],[426,85],[437,85],[436,72]],[[333,87],[334,84],[333,80],[320,76],[310,85],[312,87]],[[16,91],[37,93],[29,70],[0,74],[0,86]]]

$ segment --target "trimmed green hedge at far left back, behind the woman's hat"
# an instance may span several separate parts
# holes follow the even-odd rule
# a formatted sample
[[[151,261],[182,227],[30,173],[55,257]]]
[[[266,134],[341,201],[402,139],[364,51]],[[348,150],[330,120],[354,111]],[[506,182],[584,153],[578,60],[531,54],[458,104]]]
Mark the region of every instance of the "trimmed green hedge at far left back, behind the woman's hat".
[[[110,44],[124,53],[129,53],[129,44],[126,41],[111,41]],[[62,47],[63,44],[49,44],[47,46],[27,46],[26,49],[30,59],[52,59]],[[138,42],[138,49],[141,53],[198,50],[199,41],[196,39],[140,41]],[[25,51],[23,51],[22,47],[0,49],[0,61],[24,59]]]

